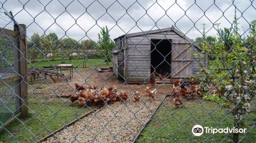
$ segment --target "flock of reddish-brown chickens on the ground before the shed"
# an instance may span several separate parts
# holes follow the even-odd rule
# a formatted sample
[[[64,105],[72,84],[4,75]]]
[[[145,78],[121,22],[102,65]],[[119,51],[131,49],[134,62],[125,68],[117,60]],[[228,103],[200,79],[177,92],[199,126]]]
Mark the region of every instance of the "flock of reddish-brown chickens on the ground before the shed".
[[[154,76],[154,75],[153,75]],[[155,83],[150,82],[151,86],[147,86],[145,88],[146,96],[152,99],[155,99],[156,89]],[[174,104],[176,106],[182,105],[182,99],[194,97],[197,94],[200,94],[201,87],[195,85],[194,82],[190,82],[191,86],[188,87],[186,84],[181,84],[181,79],[176,80],[173,84],[173,90],[171,91],[172,94],[175,96]],[[75,83],[75,88],[78,91],[75,94],[69,93],[70,100],[72,104],[78,100],[78,104],[80,107],[84,105],[100,105],[104,106],[108,103],[113,103],[116,101],[126,101],[128,99],[127,94],[124,91],[117,92],[116,86],[109,87],[101,87],[98,89],[97,85],[94,86],[80,86],[79,84]],[[135,91],[134,94],[134,101],[139,101],[141,99],[140,92]]]

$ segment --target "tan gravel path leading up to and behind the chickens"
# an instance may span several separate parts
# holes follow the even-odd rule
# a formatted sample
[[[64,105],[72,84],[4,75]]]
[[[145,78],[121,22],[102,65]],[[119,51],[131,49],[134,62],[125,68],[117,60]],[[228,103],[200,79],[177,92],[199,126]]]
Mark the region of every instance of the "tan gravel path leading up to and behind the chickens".
[[[111,73],[94,73],[89,76],[93,70],[84,69],[79,73],[88,75],[90,77],[87,79],[88,82],[84,83],[84,77],[75,74],[70,82],[71,86],[68,85],[63,93],[72,92],[72,85],[75,82],[107,87],[116,85],[119,90],[123,90],[129,95],[129,99],[125,103],[115,102],[96,110],[57,133],[56,137],[48,138],[45,142],[131,142],[170,91],[166,85],[159,87],[157,98],[153,100],[145,94],[146,85],[122,85],[122,82],[110,75]],[[141,101],[134,102],[134,90],[141,93]]]

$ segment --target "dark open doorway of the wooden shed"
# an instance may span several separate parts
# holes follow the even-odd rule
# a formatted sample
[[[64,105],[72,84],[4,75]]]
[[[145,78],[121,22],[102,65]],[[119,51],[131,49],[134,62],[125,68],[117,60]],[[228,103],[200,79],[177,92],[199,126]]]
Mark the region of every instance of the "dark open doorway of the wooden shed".
[[[172,43],[170,39],[151,39],[151,73],[171,73]],[[165,60],[164,60],[165,57]]]

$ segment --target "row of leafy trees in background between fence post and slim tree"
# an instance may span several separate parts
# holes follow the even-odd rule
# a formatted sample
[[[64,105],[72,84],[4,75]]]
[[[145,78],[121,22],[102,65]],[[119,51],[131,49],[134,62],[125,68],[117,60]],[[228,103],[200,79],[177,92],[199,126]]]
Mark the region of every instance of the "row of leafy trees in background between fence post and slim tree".
[[[3,40],[0,39],[1,41]],[[90,39],[82,40],[81,42],[73,38],[58,39],[56,33],[41,36],[38,33],[34,33],[28,40],[28,57],[31,62],[36,62],[38,58],[44,58],[47,54],[52,53],[51,60],[54,60],[54,57],[57,56],[71,60],[71,54],[74,50],[76,53],[83,52],[86,54],[86,47],[93,49],[96,47],[96,42]]]

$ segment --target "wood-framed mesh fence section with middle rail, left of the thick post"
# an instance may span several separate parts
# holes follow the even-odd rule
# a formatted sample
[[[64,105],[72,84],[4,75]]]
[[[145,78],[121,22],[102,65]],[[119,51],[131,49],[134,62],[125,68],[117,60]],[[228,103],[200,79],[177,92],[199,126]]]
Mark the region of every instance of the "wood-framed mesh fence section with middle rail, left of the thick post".
[[[23,96],[26,87],[22,87],[22,71],[26,62],[21,63],[22,57],[20,44],[24,43],[24,40],[20,39],[21,35],[18,31],[11,31],[8,29],[1,29],[1,126],[7,125],[13,118],[20,114],[27,114],[28,110],[23,109],[24,105]],[[27,72],[27,71],[25,71]],[[25,74],[26,75],[26,74]],[[25,85],[27,86],[27,85]],[[27,93],[25,93],[27,94]],[[24,116],[26,117],[26,115]]]

